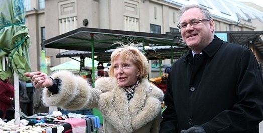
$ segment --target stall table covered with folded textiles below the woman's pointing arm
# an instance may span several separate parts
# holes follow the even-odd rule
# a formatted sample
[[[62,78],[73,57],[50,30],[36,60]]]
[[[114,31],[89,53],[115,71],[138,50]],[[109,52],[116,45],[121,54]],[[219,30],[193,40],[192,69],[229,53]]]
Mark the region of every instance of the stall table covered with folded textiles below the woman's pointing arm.
[[[100,120],[95,115],[77,113],[62,114],[60,111],[26,116],[20,113],[20,124],[14,119],[4,122],[0,119],[0,132],[98,132]]]

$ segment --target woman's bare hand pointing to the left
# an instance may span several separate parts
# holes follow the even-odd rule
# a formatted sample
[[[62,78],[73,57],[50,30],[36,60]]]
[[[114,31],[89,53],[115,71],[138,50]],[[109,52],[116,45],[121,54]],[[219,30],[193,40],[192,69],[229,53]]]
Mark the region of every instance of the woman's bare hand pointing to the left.
[[[35,88],[45,88],[53,85],[53,80],[46,73],[26,72],[24,75],[30,78]]]

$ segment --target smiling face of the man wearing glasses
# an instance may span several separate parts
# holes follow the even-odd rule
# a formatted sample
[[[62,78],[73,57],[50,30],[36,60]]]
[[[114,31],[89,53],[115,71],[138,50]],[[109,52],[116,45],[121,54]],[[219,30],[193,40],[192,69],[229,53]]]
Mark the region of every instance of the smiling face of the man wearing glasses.
[[[189,23],[193,19],[207,19],[199,8],[190,8],[186,10],[181,18],[180,23]],[[214,21],[201,21],[200,23],[191,26],[187,24],[181,29],[183,41],[195,53],[200,53],[213,39]]]

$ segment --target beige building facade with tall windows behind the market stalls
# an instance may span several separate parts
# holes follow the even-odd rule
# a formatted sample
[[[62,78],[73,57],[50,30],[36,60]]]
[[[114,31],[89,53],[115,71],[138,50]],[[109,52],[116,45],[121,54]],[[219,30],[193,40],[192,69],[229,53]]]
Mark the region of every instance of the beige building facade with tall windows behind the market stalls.
[[[32,40],[29,48],[32,71],[40,70],[42,49],[46,50],[48,68],[69,60],[55,56],[65,50],[41,47],[45,39],[79,27],[162,34],[177,32],[179,31],[177,28],[179,9],[182,5],[190,3],[199,4],[211,10],[216,31],[263,30],[261,11],[255,10],[254,16],[248,13],[246,15],[245,12],[242,15],[242,10],[233,7],[242,8],[243,6],[249,10],[254,9],[241,4],[241,6],[232,6],[230,10],[227,7],[233,3],[224,0],[24,0],[26,26]],[[224,4],[225,9],[215,10],[214,5],[218,3]],[[257,13],[261,13],[261,16],[256,16]],[[261,60],[260,56],[257,57]]]

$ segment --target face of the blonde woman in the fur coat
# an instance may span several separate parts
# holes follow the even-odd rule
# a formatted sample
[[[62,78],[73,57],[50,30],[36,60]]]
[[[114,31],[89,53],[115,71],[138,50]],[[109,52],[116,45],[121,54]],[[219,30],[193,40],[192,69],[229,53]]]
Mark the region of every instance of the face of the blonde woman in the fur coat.
[[[114,77],[117,79],[121,87],[135,84],[138,79],[138,75],[140,75],[139,68],[130,57],[126,62],[122,61],[119,57],[116,57],[113,62],[113,68]]]

